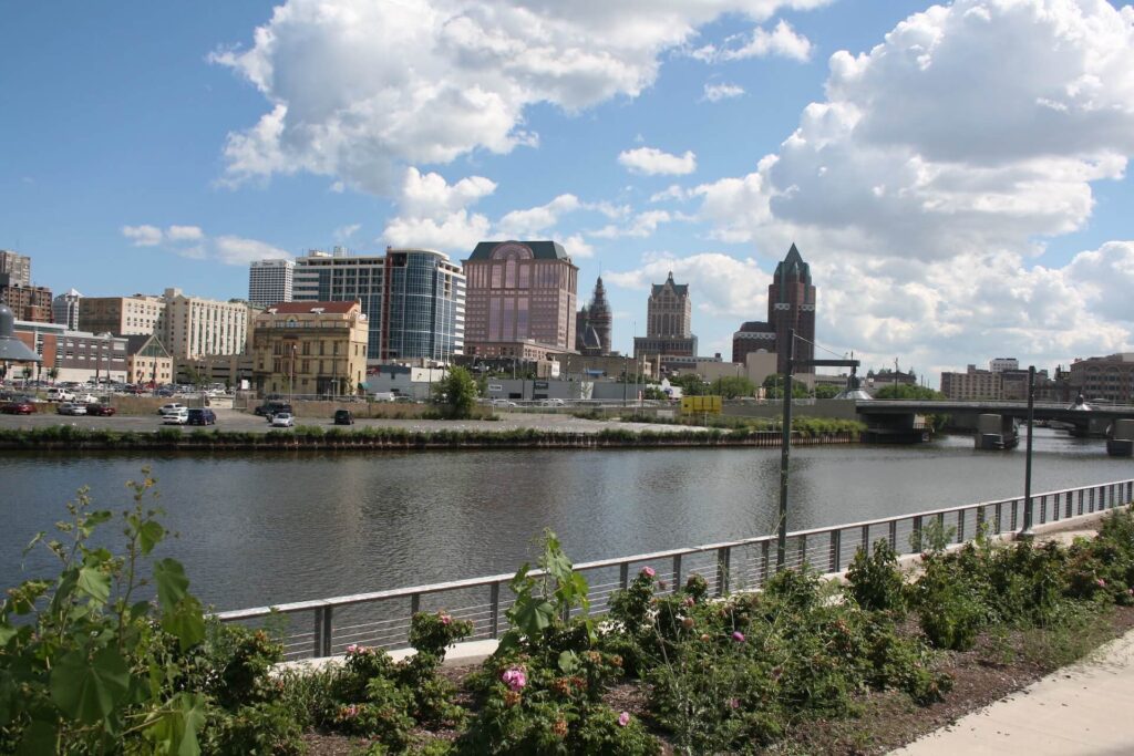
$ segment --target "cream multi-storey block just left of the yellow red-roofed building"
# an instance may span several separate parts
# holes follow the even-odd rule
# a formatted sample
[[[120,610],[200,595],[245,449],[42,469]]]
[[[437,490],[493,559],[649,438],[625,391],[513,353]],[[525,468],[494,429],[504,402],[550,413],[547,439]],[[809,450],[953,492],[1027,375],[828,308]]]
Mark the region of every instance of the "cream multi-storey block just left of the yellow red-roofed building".
[[[248,304],[187,297],[166,289],[160,337],[175,358],[243,355],[248,340]]]

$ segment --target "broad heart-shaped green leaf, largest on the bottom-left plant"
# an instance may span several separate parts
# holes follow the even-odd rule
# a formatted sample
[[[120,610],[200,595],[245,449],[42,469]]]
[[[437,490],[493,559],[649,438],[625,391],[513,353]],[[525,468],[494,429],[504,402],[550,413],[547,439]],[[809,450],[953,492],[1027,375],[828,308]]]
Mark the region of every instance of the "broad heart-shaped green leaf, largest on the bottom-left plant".
[[[91,660],[73,651],[51,670],[51,700],[70,719],[94,724],[115,711],[129,685],[129,669],[113,646]]]

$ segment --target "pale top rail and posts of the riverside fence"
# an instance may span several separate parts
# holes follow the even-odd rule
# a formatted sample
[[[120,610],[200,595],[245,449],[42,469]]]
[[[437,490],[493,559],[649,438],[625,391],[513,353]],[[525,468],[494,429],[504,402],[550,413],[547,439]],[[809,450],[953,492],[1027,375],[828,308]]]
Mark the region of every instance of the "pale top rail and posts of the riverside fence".
[[[1101,492],[1097,495],[1097,492]],[[1077,502],[1075,502],[1075,494],[1077,494]],[[1040,507],[1040,512],[1036,516],[1038,523],[1064,520],[1074,518],[1076,516],[1084,516],[1093,513],[1097,511],[1102,511],[1110,509],[1120,504],[1134,503],[1134,478],[1124,481],[1111,481],[1109,483],[1098,483],[1085,486],[1074,486],[1068,489],[1058,489],[1055,491],[1047,491],[1043,493],[1036,493],[1032,496],[1033,501]],[[861,535],[862,542],[855,545],[853,541],[848,537],[848,545],[855,545],[855,550],[865,546],[870,549],[871,542],[869,541],[871,530],[875,530],[880,537],[885,534],[890,541],[891,547],[896,549],[902,553],[902,549],[897,544],[898,535],[898,524],[903,521],[908,521],[911,524],[912,534],[919,534],[924,523],[937,518],[938,521],[943,523],[946,515],[957,516],[957,540],[958,542],[966,538],[973,537],[976,529],[985,521],[988,516],[988,510],[992,509],[993,523],[997,533],[1012,533],[1018,529],[1017,526],[1022,526],[1023,518],[1017,516],[1017,509],[1023,504],[1023,495],[1008,496],[1005,499],[992,499],[988,501],[982,501],[971,504],[960,504],[943,507],[939,509],[925,510],[920,512],[911,512],[906,515],[897,515],[891,517],[881,517],[871,520],[860,520],[856,523],[846,523],[839,525],[823,526],[818,528],[810,528],[806,530],[796,530],[788,534],[788,538],[793,542],[793,546],[789,551],[796,555],[799,563],[811,561],[809,560],[809,554],[818,552],[826,559],[826,571],[838,572],[843,569],[844,564],[844,540],[843,536],[853,535],[857,532]],[[1051,515],[1048,516],[1048,504],[1051,504]],[[1008,508],[1010,511],[1005,512],[1004,509]],[[1060,507],[1063,509],[1060,509]],[[968,525],[966,524],[966,516],[973,513],[975,517],[975,527],[972,533],[967,532]],[[824,541],[823,537],[827,540]],[[753,558],[759,561],[759,566],[754,568],[754,572],[744,574],[742,577],[753,577],[755,576],[761,581],[770,575],[770,570],[773,569],[769,562],[769,552],[771,551],[771,544],[776,541],[775,535],[763,535],[755,537],[741,538],[736,541],[725,541],[720,543],[703,544],[700,546],[683,546],[677,549],[668,549],[665,551],[654,551],[641,554],[632,554],[628,557],[618,557],[612,559],[601,559],[590,562],[581,562],[575,564],[576,571],[595,571],[603,569],[618,568],[618,580],[617,583],[607,583],[604,586],[618,586],[625,588],[629,584],[629,566],[635,563],[659,563],[666,560],[671,562],[670,575],[674,578],[674,583],[677,584],[683,577],[685,558],[692,557],[708,557],[713,559],[714,564],[709,567],[710,570],[714,570],[716,575],[713,580],[710,581],[714,586],[718,594],[722,594],[728,589],[730,583],[730,572],[733,569],[733,552],[735,550],[742,550],[746,547],[759,547],[760,555]],[[532,577],[540,577],[544,575],[543,570],[532,570],[528,572]],[[486,637],[498,637],[500,630],[501,621],[501,604],[502,600],[500,596],[501,586],[508,586],[513,579],[511,574],[501,575],[490,575],[485,577],[477,578],[465,578],[460,580],[450,580],[447,583],[434,583],[429,585],[417,585],[407,586],[403,588],[391,588],[387,591],[375,591],[370,593],[359,593],[345,596],[332,596],[329,598],[320,598],[312,601],[301,601],[291,602],[285,604],[276,604],[270,606],[255,606],[251,609],[239,609],[234,611],[219,612],[217,618],[222,622],[239,622],[247,620],[255,620],[261,618],[266,618],[273,614],[297,614],[303,612],[312,612],[314,614],[314,632],[301,632],[288,636],[289,639],[303,639],[303,644],[289,644],[289,647],[298,646],[310,646],[313,656],[328,656],[332,653],[332,648],[341,647],[347,639],[336,636],[336,628],[333,625],[333,615],[336,609],[344,609],[349,606],[359,606],[363,604],[382,604],[383,602],[409,600],[409,617],[416,613],[421,605],[421,600],[424,596],[435,596],[438,594],[449,593],[454,591],[466,591],[476,588],[489,588],[490,598],[488,604],[477,603],[472,606],[464,608],[452,608],[450,611],[454,615],[460,615],[462,612],[469,612],[476,609],[479,614],[486,613],[486,627],[480,630],[480,635]],[[676,587],[676,585],[675,585]],[[606,602],[607,594],[603,593],[603,605]],[[484,608],[488,608],[486,610]],[[601,611],[599,608],[596,611]],[[408,617],[397,618],[401,622],[408,625]],[[363,627],[363,626],[357,626]],[[344,634],[349,630],[349,627],[338,628],[339,634]],[[357,637],[357,636],[356,636]],[[391,637],[391,644],[405,644],[407,642],[406,637],[399,635],[398,637]],[[291,651],[288,655],[297,656],[303,652]]]

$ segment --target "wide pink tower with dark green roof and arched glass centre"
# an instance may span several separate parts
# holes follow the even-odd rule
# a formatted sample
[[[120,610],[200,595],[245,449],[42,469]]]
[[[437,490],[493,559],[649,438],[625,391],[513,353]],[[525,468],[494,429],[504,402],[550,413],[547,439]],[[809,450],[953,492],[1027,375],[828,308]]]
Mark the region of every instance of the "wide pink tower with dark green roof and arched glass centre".
[[[465,354],[547,359],[575,346],[578,267],[557,241],[481,241],[465,261]]]

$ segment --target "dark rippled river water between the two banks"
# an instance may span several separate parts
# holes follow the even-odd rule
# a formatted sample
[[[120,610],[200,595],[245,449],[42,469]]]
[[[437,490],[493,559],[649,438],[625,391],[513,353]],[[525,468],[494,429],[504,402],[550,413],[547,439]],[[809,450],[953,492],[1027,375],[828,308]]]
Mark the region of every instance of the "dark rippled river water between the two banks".
[[[122,510],[149,465],[162,521],[159,557],[193,591],[238,609],[499,572],[553,529],[575,561],[769,534],[778,449],[281,452],[0,456],[0,587],[43,575],[22,557],[83,485]],[[1038,428],[1033,491],[1134,477],[1101,441]],[[979,452],[968,436],[916,447],[794,448],[789,529],[1019,495],[1023,444]],[[103,526],[109,529],[109,526]],[[116,528],[117,529],[117,528]],[[22,571],[23,564],[23,571]]]

